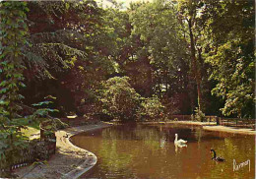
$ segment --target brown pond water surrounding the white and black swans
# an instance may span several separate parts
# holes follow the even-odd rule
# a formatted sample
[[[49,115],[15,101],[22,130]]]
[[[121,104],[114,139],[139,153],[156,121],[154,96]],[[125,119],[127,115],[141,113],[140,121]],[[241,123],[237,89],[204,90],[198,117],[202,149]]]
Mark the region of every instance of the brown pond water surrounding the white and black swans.
[[[188,141],[186,148],[174,146],[174,136]],[[255,137],[204,131],[200,126],[174,124],[112,126],[83,133],[72,143],[97,156],[96,166],[81,178],[255,178]],[[211,158],[215,149],[225,162]],[[236,165],[249,165],[233,171]]]

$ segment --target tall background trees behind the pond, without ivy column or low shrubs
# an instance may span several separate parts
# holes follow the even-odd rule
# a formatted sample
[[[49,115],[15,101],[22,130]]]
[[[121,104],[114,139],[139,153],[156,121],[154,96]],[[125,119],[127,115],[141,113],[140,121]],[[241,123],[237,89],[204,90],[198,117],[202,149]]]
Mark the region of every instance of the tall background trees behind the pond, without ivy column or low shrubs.
[[[84,114],[101,83],[128,76],[171,113],[199,107],[253,117],[253,5],[156,0],[120,10],[116,2],[104,9],[94,1],[29,2],[25,102],[52,94],[61,114]]]

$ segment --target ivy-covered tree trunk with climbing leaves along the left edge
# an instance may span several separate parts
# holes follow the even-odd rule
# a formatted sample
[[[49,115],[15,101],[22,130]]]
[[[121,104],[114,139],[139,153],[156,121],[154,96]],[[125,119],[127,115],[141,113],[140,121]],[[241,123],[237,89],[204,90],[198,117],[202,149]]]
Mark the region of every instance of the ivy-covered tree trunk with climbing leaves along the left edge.
[[[21,133],[25,128],[19,122],[19,102],[23,95],[19,89],[23,84],[23,49],[27,42],[26,2],[1,2],[1,48],[0,48],[0,160],[9,164],[18,149],[26,148],[26,140]]]

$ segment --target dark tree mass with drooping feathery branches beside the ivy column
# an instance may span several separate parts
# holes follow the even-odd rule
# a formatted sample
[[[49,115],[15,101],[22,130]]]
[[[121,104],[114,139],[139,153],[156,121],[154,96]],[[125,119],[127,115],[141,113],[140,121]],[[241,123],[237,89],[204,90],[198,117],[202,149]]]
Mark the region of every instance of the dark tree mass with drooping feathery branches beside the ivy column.
[[[109,59],[114,40],[104,11],[95,1],[30,2],[28,6],[32,45],[25,52],[26,102],[51,94],[63,113],[81,113],[83,101],[115,70]]]

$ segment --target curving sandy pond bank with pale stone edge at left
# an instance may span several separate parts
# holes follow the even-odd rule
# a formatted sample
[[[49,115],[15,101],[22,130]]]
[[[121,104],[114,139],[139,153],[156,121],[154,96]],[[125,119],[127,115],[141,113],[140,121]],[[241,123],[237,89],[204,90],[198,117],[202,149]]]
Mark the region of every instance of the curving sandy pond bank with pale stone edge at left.
[[[110,126],[106,123],[67,128],[56,132],[57,151],[45,163],[36,163],[15,171],[19,178],[78,178],[96,164],[96,155],[80,149],[70,142],[70,137]]]

